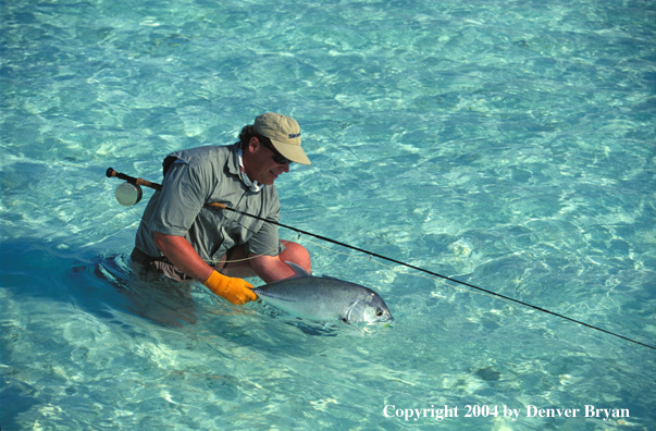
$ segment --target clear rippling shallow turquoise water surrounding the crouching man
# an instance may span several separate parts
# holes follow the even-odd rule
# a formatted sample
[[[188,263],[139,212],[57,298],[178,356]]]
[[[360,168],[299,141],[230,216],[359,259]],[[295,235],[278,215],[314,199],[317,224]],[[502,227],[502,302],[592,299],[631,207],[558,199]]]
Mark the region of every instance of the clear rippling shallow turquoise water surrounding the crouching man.
[[[104,177],[160,181],[168,152],[283,112],[312,160],[277,181],[283,223],[655,345],[654,1],[1,13],[3,430],[656,427],[653,349],[294,232],[394,324],[132,280],[145,204]]]

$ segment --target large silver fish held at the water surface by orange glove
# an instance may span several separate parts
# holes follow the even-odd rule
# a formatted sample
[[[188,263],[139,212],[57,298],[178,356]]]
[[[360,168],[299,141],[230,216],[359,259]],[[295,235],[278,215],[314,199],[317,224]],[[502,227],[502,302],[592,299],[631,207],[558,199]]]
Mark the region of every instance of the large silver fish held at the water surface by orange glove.
[[[330,276],[312,276],[299,266],[286,263],[296,274],[253,288],[262,300],[317,320],[342,319],[348,323],[393,320],[383,298],[371,288]]]

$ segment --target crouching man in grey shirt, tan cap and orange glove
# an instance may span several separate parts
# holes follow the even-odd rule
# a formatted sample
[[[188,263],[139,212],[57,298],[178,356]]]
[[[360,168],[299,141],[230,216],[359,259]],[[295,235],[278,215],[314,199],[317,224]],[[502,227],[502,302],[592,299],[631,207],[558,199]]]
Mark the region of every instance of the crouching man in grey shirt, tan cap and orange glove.
[[[175,281],[197,280],[233,304],[257,299],[243,280],[270,283],[294,275],[290,261],[310,272],[308,250],[281,241],[281,204],[273,185],[292,162],[310,164],[300,147],[300,128],[288,116],[268,112],[256,118],[230,146],[205,146],[169,155],[162,190],[156,192],[137,231],[132,260]]]

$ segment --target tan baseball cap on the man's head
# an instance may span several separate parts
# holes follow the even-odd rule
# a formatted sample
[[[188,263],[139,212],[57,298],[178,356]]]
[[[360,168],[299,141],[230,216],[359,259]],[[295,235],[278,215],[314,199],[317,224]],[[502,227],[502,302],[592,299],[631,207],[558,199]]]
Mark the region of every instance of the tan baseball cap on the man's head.
[[[300,148],[300,127],[294,119],[267,112],[258,115],[253,127],[257,133],[271,139],[275,149],[287,159],[300,164],[310,164],[310,159]]]

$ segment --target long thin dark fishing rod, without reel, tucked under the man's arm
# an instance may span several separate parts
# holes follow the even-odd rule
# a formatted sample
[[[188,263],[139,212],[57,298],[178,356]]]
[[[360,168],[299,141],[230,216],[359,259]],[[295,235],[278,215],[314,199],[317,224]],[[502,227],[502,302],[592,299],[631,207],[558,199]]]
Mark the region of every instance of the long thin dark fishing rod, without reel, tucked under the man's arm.
[[[121,180],[125,180],[128,183],[134,184],[137,187],[139,185],[144,185],[146,187],[154,188],[156,190],[161,190],[162,189],[162,186],[160,184],[150,183],[149,181],[146,181],[146,180],[143,180],[143,178],[135,178],[133,176],[128,176],[128,175],[122,174],[120,172],[114,171],[112,168],[109,168],[107,170],[106,174],[107,174],[108,177],[115,176],[115,177],[119,177]],[[578,324],[580,324],[582,327],[590,328],[590,329],[603,332],[605,334],[612,335],[612,336],[616,336],[618,338],[622,338],[624,341],[628,341],[628,342],[631,342],[631,343],[634,343],[634,344],[639,344],[641,346],[644,346],[644,347],[651,348],[653,350],[656,350],[656,347],[654,347],[654,346],[651,346],[648,344],[639,342],[639,341],[633,340],[633,338],[629,338],[627,336],[620,335],[620,334],[611,332],[611,331],[607,331],[607,330],[605,330],[603,328],[595,327],[593,324],[582,322],[580,320],[577,320],[577,319],[573,319],[573,318],[570,318],[570,317],[557,313],[555,311],[550,311],[550,310],[547,310],[545,308],[534,306],[534,305],[525,303],[523,300],[515,299],[515,298],[511,298],[510,296],[506,296],[506,295],[503,295],[503,294],[499,294],[499,293],[496,293],[496,292],[492,292],[492,291],[488,291],[488,290],[483,288],[483,287],[474,286],[473,284],[466,283],[466,282],[462,282],[462,281],[459,281],[459,280],[456,280],[456,279],[451,279],[449,276],[442,275],[442,274],[438,274],[436,272],[433,272],[433,271],[430,271],[430,270],[426,270],[426,269],[423,269],[423,268],[420,268],[420,267],[417,267],[417,266],[413,266],[413,264],[410,264],[410,263],[403,262],[400,260],[388,258],[386,256],[379,255],[376,253],[369,251],[369,250],[366,250],[363,248],[355,247],[355,246],[351,246],[349,244],[345,244],[345,243],[342,243],[342,242],[329,238],[326,236],[317,235],[317,234],[313,234],[313,233],[308,232],[308,231],[304,231],[304,230],[300,230],[300,229],[297,229],[297,227],[294,227],[294,226],[289,226],[289,225],[276,222],[274,220],[270,220],[270,219],[265,219],[265,218],[262,218],[262,217],[259,217],[259,216],[250,214],[248,212],[244,212],[244,211],[240,211],[240,210],[237,210],[237,209],[234,209],[234,208],[230,208],[230,207],[227,207],[227,206],[225,206],[223,204],[219,204],[219,202],[206,204],[206,207],[210,207],[210,208],[214,208],[214,209],[219,209],[219,210],[233,211],[233,212],[236,212],[236,213],[242,214],[242,216],[251,217],[253,219],[261,220],[261,221],[264,221],[267,223],[272,223],[272,224],[275,224],[276,226],[288,229],[290,231],[294,231],[294,232],[302,234],[302,235],[309,235],[309,236],[315,237],[318,239],[325,241],[327,243],[332,243],[332,244],[335,244],[335,245],[338,245],[338,246],[342,246],[342,247],[350,248],[351,250],[363,253],[363,254],[366,254],[366,255],[368,255],[370,257],[376,257],[379,259],[387,260],[389,262],[393,262],[393,263],[396,263],[396,264],[400,264],[400,266],[406,267],[406,268],[411,268],[411,269],[413,269],[416,271],[424,272],[426,274],[433,275],[434,278],[436,276],[438,279],[447,280],[447,281],[450,281],[453,283],[461,284],[463,286],[467,286],[467,287],[470,287],[470,288],[473,288],[473,290],[476,290],[476,291],[480,291],[480,292],[484,292],[484,293],[486,293],[486,294],[488,294],[491,296],[503,298],[503,299],[505,299],[507,301],[520,304],[520,305],[523,305],[524,307],[529,307],[529,308],[532,308],[534,310],[537,310],[537,311],[541,311],[541,312],[544,312],[544,313],[547,313],[547,315],[556,316],[558,318],[568,320],[570,322],[578,323]]]

